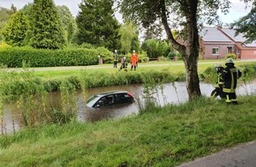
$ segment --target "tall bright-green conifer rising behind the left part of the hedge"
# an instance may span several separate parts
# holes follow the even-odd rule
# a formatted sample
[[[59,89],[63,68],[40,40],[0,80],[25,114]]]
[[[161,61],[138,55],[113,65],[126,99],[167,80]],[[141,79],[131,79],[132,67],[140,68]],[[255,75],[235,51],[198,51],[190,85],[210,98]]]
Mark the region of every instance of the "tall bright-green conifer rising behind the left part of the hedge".
[[[58,49],[64,47],[64,29],[53,0],[34,0],[31,11],[31,46]]]

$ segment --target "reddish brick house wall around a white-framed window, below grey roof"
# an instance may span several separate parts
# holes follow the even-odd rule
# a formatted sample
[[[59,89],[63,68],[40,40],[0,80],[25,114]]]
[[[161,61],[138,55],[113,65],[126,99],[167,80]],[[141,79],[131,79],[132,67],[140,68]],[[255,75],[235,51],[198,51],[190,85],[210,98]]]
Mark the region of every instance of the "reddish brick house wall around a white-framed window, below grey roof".
[[[232,53],[235,52],[234,44],[227,44],[227,43],[205,43],[204,49],[200,52],[200,56],[202,59],[205,60],[215,60],[215,59],[224,59],[226,54],[228,54],[228,47],[232,47]],[[213,54],[213,48],[219,48],[218,54]]]

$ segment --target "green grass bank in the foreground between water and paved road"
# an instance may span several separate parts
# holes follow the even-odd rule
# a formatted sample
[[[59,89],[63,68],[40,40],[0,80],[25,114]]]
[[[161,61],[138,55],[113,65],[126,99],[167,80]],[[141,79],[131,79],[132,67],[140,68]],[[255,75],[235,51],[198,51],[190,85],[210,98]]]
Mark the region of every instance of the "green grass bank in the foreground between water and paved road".
[[[176,166],[256,139],[256,97],[200,98],[121,120],[0,136],[0,166]]]

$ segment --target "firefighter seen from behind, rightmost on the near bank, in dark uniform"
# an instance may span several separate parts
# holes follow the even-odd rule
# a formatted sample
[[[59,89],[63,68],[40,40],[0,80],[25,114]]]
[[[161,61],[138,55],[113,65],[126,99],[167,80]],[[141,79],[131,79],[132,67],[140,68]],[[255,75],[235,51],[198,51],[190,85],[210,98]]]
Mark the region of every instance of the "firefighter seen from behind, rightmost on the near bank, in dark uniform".
[[[225,65],[226,68],[222,70],[222,91],[227,104],[237,105],[237,79],[242,76],[242,73],[235,67],[235,61],[232,58],[228,58]]]

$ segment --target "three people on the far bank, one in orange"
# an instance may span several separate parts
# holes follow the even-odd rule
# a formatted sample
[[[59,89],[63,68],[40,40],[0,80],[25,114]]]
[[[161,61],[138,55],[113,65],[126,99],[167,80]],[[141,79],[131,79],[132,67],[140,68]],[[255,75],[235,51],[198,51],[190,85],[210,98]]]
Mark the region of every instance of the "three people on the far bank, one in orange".
[[[118,62],[117,50],[115,50],[113,56],[114,56],[114,68],[117,68],[117,62]],[[132,70],[132,69],[136,70],[136,68],[138,68],[138,61],[139,61],[139,56],[138,56],[138,54],[135,52],[135,50],[133,50],[133,51],[132,51],[132,55],[131,55],[131,57],[130,57],[131,70]],[[122,58],[122,61],[121,61],[121,62],[122,62],[122,64],[121,64],[119,70],[124,69],[125,71],[127,71],[128,63],[127,63],[127,59],[126,59],[125,56]]]

